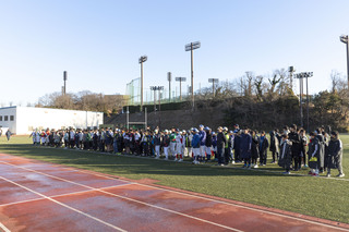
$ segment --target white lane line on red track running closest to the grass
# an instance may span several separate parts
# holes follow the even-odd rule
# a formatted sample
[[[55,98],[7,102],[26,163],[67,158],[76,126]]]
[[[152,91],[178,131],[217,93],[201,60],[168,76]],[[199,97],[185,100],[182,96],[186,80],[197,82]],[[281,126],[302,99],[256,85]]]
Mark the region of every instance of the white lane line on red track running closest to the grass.
[[[59,167],[59,166],[57,166],[57,167]],[[87,174],[93,174],[93,175],[96,175],[96,176],[110,179],[110,180],[116,180],[115,178],[111,178],[111,176],[103,174],[103,173],[99,174],[99,173],[96,173],[94,171],[88,171],[88,170],[85,171],[85,170],[68,168],[68,167],[63,167],[63,168],[64,169],[70,169],[70,170],[75,170],[75,171],[82,172],[82,173],[87,173]],[[123,182],[128,182],[128,181],[121,180],[121,179],[118,179],[118,180],[119,181],[123,181]],[[236,206],[236,207],[239,207],[239,208],[244,208],[244,209],[250,209],[250,210],[254,210],[254,211],[258,211],[258,212],[269,213],[269,215],[273,215],[273,216],[279,216],[279,217],[284,217],[284,218],[294,219],[294,220],[299,220],[299,221],[303,221],[303,222],[308,222],[308,223],[312,223],[312,224],[317,224],[317,225],[323,225],[323,227],[327,227],[327,228],[332,228],[332,229],[337,229],[337,230],[341,230],[341,231],[349,231],[348,229],[345,229],[345,228],[335,227],[335,225],[326,224],[326,223],[322,223],[322,222],[316,222],[316,221],[312,221],[312,220],[309,220],[309,219],[302,219],[302,218],[287,216],[287,215],[282,215],[282,213],[277,213],[277,212],[273,212],[273,211],[268,211],[268,210],[257,209],[257,208],[253,208],[253,207],[249,207],[249,206],[242,206],[242,205],[239,205],[239,204],[227,203],[227,202],[222,202],[222,200],[219,200],[219,199],[205,198],[205,197],[197,196],[197,195],[191,195],[191,194],[188,194],[188,193],[182,193],[182,192],[178,192],[178,191],[171,191],[171,190],[167,190],[167,188],[163,188],[163,187],[156,187],[156,186],[146,185],[146,184],[141,184],[141,183],[136,183],[136,182],[133,182],[133,183],[136,184],[136,185],[141,185],[141,186],[152,187],[152,188],[161,190],[161,191],[165,191],[165,192],[177,193],[177,194],[181,194],[181,195],[185,195],[185,196],[190,196],[190,197],[194,197],[194,198],[204,199],[204,200],[207,200],[207,202],[214,202],[214,203]],[[342,224],[345,224],[345,223],[342,223]]]

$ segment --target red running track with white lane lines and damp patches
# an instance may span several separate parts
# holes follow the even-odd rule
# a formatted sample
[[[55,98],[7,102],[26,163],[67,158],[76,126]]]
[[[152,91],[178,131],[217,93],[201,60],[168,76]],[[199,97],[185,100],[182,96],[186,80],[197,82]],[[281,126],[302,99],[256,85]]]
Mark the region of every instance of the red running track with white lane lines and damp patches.
[[[349,224],[0,155],[0,231],[349,231]]]

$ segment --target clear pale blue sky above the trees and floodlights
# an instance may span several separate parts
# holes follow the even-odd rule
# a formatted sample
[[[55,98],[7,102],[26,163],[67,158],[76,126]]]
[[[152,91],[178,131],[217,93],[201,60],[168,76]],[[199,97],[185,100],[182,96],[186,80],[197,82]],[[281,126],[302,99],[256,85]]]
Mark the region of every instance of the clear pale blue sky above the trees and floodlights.
[[[124,94],[142,54],[144,85],[167,86],[169,71],[190,77],[184,45],[196,40],[195,88],[293,65],[314,72],[316,93],[329,88],[332,70],[346,75],[348,0],[0,0],[0,22],[5,106],[60,91],[64,70],[69,91]]]

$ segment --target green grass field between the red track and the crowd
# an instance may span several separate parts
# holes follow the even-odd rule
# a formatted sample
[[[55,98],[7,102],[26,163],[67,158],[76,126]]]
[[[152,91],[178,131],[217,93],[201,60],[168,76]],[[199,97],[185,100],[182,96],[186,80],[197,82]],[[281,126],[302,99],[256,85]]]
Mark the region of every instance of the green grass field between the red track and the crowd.
[[[28,137],[0,137],[0,152],[124,176],[157,184],[349,223],[349,135],[344,143],[344,180],[282,175],[277,164],[258,171],[193,166],[148,158],[34,147]],[[270,155],[268,155],[270,158]],[[268,160],[269,162],[270,160]],[[306,174],[303,169],[300,174]],[[333,170],[333,176],[338,173]],[[323,174],[324,175],[324,174]]]

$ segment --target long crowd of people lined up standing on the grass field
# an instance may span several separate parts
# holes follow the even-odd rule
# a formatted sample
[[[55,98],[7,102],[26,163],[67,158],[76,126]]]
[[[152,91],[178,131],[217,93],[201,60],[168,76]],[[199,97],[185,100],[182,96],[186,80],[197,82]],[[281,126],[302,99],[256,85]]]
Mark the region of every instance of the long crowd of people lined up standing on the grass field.
[[[155,159],[183,161],[184,157],[192,159],[194,164],[216,161],[217,166],[242,163],[243,168],[257,169],[266,166],[268,151],[272,163],[278,163],[285,169],[285,174],[299,171],[302,167],[310,168],[309,174],[317,176],[332,169],[342,172],[342,144],[338,132],[325,132],[318,127],[310,133],[297,125],[284,126],[281,131],[274,130],[269,136],[265,131],[241,130],[238,124],[232,131],[219,126],[213,132],[208,126],[189,131],[171,130],[43,130],[31,134],[34,145],[64,147],[65,149],[84,149],[100,152],[127,154],[135,156],[152,156]]]

